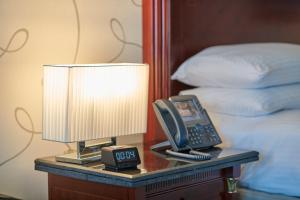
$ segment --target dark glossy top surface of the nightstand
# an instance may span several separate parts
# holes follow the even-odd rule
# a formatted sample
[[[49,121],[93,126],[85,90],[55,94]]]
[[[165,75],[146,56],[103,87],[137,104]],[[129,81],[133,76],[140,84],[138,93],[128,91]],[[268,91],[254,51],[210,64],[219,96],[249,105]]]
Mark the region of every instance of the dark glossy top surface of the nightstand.
[[[55,161],[55,157],[35,160],[35,169],[62,176],[126,187],[142,186],[168,180],[174,176],[187,176],[195,172],[219,170],[258,160],[258,152],[231,148],[212,148],[213,158],[206,161],[192,161],[167,156],[135,144],[139,149],[141,164],[138,169],[112,172],[104,169],[101,162],[86,165],[68,164]]]

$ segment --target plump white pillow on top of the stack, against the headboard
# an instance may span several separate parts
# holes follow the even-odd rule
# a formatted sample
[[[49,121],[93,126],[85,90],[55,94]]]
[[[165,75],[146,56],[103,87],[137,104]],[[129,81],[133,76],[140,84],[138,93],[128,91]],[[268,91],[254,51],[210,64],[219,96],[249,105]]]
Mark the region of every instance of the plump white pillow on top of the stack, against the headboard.
[[[300,45],[214,46],[187,59],[172,76],[192,86],[263,88],[300,82]]]

